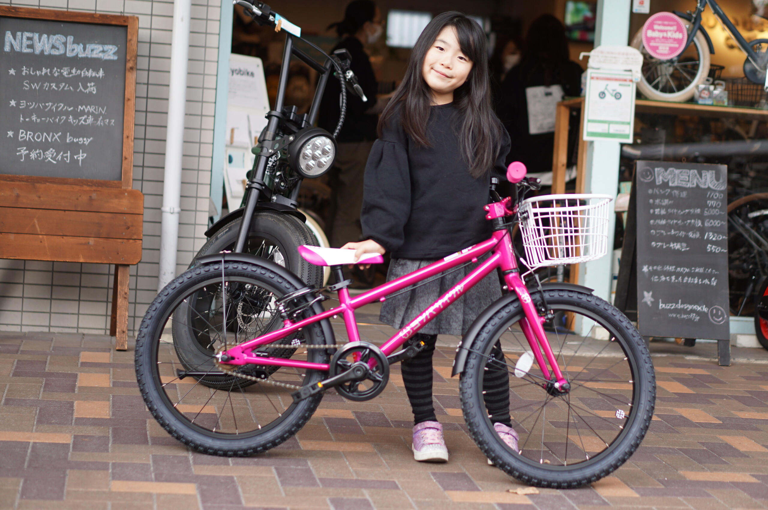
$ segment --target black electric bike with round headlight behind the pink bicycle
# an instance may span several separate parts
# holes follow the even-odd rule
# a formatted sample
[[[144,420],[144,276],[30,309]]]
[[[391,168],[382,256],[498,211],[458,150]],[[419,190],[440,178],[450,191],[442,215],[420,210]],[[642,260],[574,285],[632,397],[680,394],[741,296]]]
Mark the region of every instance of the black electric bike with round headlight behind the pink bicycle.
[[[297,210],[297,199],[303,179],[326,173],[336,156],[335,137],[346,115],[346,92],[366,100],[353,71],[351,57],[342,49],[326,54],[315,44],[300,37],[300,28],[274,12],[263,2],[233,2],[243,7],[259,25],[279,28],[286,33],[283,64],[274,110],[266,114],[269,122],[253,147],[256,159],[249,179],[243,207],[230,211],[205,232],[208,241],[200,248],[197,258],[222,251],[246,252],[283,265],[309,285],[323,285],[323,268],[311,265],[299,256],[300,245],[316,245],[313,232],[305,224],[306,217]],[[319,64],[305,51],[296,47],[303,41],[325,58]],[[296,107],[285,104],[290,59],[295,56],[319,74],[312,105],[306,114],[296,114]],[[341,115],[333,135],[313,127],[326,83],[334,74],[341,83]]]

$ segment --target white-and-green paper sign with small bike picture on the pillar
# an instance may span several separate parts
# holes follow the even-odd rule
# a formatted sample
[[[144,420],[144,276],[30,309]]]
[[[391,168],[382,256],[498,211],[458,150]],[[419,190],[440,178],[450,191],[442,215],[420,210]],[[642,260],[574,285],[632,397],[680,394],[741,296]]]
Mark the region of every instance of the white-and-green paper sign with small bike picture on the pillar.
[[[632,143],[634,94],[630,71],[588,69],[584,140]]]

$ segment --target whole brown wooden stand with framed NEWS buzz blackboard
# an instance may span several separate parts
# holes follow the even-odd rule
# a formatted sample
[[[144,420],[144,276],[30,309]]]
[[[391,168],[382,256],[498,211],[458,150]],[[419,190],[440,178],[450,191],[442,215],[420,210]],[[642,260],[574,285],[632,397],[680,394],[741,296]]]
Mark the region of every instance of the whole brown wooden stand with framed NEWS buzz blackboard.
[[[0,258],[114,264],[127,348],[138,18],[0,6]]]

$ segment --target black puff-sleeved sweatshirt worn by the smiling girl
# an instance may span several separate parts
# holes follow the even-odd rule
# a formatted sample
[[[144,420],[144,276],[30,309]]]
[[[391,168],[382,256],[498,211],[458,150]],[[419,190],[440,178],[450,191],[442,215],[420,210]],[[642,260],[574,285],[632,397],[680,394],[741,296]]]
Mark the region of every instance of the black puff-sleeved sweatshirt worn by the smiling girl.
[[[491,177],[505,178],[509,136],[491,173],[469,175],[458,146],[461,117],[452,103],[432,107],[431,147],[417,147],[393,116],[373,144],[362,201],[363,239],[373,239],[395,258],[442,258],[491,236],[485,219]]]

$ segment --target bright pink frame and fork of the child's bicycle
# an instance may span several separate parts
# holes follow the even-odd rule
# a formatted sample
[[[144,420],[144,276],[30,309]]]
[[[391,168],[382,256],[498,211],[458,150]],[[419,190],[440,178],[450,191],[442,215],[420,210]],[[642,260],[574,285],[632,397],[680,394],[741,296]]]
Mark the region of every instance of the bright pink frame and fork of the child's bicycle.
[[[486,219],[501,219],[504,216],[514,214],[515,211],[508,209],[509,199],[504,199],[502,202],[495,202],[488,204],[486,210],[488,215]],[[515,207],[516,209],[516,207]],[[543,324],[545,322],[544,317],[540,317],[536,311],[535,305],[531,300],[531,295],[528,294],[528,289],[525,286],[525,282],[522,280],[520,270],[518,268],[517,261],[515,260],[515,253],[511,244],[511,237],[509,230],[506,227],[495,230],[491,239],[487,239],[484,242],[477,245],[463,249],[461,252],[456,252],[449,255],[437,262],[421,268],[418,271],[414,271],[409,275],[402,276],[396,280],[387,282],[384,285],[380,285],[377,288],[367,291],[363,294],[359,294],[356,298],[350,298],[349,291],[346,288],[339,289],[339,306],[324,311],[323,313],[316,314],[313,317],[306,318],[303,321],[293,322],[286,320],[284,327],[279,330],[272,331],[264,334],[253,340],[243,342],[235,347],[226,350],[224,354],[229,356],[227,364],[232,365],[244,365],[244,364],[259,364],[259,365],[273,365],[280,367],[296,367],[305,368],[310,370],[329,370],[328,364],[311,363],[303,360],[290,360],[276,357],[260,357],[253,354],[253,350],[262,345],[270,344],[280,338],[286,337],[286,335],[300,331],[303,327],[314,324],[318,321],[333,317],[335,315],[342,315],[344,318],[344,324],[346,326],[346,332],[349,336],[350,342],[356,342],[360,340],[359,331],[357,329],[357,323],[355,319],[355,310],[370,304],[373,301],[385,301],[386,296],[396,291],[400,291],[409,285],[414,285],[419,281],[423,281],[433,275],[437,275],[442,271],[446,271],[450,268],[455,268],[465,262],[478,262],[478,258],[485,255],[488,252],[493,252],[493,255],[489,257],[481,265],[472,270],[465,278],[452,287],[449,291],[442,294],[442,296],[429,305],[418,317],[413,319],[409,324],[406,324],[400,331],[394,336],[389,338],[382,347],[382,352],[389,356],[394,353],[402,344],[405,344],[417,331],[419,331],[425,324],[431,321],[437,314],[445,310],[449,304],[452,304],[458,298],[460,298],[466,291],[472,288],[478,281],[485,278],[495,269],[501,269],[504,275],[505,283],[510,291],[514,291],[520,299],[523,311],[525,312],[525,318],[521,320],[521,329],[528,339],[528,344],[531,346],[534,357],[541,367],[541,372],[545,377],[545,380],[552,380],[554,374],[554,380],[556,387],[567,383],[561,373],[560,367],[556,360],[555,354],[551,349],[551,346],[547,340],[547,336],[544,331]],[[542,354],[543,350],[543,354]],[[546,361],[549,363],[547,367]],[[551,373],[550,373],[551,369]]]

